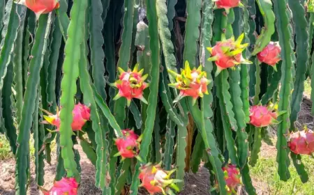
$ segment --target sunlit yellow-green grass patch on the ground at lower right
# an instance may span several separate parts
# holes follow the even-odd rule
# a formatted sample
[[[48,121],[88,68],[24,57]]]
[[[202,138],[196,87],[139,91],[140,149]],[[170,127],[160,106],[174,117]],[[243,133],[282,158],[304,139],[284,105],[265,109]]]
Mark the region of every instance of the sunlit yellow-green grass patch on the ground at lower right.
[[[306,166],[306,171],[309,176],[308,182],[305,184],[301,182],[297,171],[291,162],[290,164],[290,174],[291,178],[287,182],[280,180],[277,169],[278,164],[276,162],[276,150],[274,155],[270,157],[263,158],[260,157],[256,166],[251,167],[251,176],[259,185],[264,185],[267,194],[296,194],[296,195],[313,195],[314,194],[314,158],[308,155],[302,156],[302,162]]]

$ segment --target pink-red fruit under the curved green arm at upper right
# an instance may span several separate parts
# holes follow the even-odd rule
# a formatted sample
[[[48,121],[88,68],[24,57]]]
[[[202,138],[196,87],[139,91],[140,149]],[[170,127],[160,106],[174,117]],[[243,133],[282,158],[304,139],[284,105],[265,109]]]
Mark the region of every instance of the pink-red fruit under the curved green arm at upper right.
[[[281,46],[279,42],[269,42],[269,45],[257,54],[257,59],[260,62],[271,65],[277,71],[276,63],[281,61]]]

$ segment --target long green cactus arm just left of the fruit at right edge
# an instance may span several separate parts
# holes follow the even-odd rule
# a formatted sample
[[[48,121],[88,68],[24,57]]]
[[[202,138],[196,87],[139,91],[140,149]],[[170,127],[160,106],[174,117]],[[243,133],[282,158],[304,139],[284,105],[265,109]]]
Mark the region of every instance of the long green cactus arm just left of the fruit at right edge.
[[[292,47],[290,43],[291,31],[290,20],[287,13],[287,1],[274,1],[274,10],[277,18],[276,26],[278,29],[279,44],[281,45],[281,59],[283,63],[281,65],[281,91],[279,92],[278,111],[287,111],[281,115],[278,120],[282,120],[283,123],[278,125],[277,143],[276,148],[277,162],[278,162],[278,174],[281,180],[288,180],[290,178],[290,172],[288,167],[290,160],[287,155],[289,149],[287,148],[287,140],[285,135],[289,131],[290,127],[290,100],[291,100],[291,86],[292,86]],[[290,13],[289,13],[290,14]]]

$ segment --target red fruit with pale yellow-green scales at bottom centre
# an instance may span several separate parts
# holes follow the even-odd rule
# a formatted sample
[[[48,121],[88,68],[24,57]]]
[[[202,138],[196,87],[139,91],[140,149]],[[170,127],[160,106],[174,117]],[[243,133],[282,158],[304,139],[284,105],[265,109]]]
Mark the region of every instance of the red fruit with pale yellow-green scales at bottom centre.
[[[179,188],[175,183],[181,182],[181,180],[170,179],[170,176],[174,171],[175,169],[172,171],[161,169],[161,164],[146,164],[140,168],[139,178],[142,181],[141,186],[147,189],[149,194],[165,194],[168,190],[171,191],[169,187],[179,191]]]

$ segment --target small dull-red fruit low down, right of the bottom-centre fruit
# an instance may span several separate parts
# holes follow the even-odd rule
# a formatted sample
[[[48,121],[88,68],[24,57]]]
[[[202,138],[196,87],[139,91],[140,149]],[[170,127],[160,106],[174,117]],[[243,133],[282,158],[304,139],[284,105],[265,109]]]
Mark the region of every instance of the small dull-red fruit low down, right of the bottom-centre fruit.
[[[240,171],[234,164],[228,164],[223,167],[223,172],[225,173],[225,183],[227,185],[227,194],[237,194],[235,189],[241,184]]]

